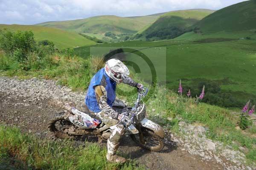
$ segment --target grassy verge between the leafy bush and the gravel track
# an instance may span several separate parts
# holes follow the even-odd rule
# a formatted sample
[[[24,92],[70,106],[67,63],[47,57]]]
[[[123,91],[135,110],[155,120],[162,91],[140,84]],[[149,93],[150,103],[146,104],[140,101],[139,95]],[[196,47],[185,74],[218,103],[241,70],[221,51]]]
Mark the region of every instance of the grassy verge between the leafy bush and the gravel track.
[[[45,58],[47,61],[41,61],[42,68],[24,70],[23,64],[9,60],[0,55],[0,64],[8,67],[6,71],[2,71],[2,75],[19,76],[20,78],[39,77],[45,79],[58,80],[59,84],[70,86],[74,90],[86,89],[90,83],[92,73],[90,72],[90,62],[81,58],[74,57],[72,59],[64,55],[51,55]],[[49,63],[47,63],[49,62]],[[3,66],[3,65],[2,65]]]

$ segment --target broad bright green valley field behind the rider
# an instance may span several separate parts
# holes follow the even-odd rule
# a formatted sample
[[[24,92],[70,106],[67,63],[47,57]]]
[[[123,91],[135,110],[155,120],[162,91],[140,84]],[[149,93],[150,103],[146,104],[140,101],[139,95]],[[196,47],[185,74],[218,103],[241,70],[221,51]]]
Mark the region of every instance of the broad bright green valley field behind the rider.
[[[110,49],[135,47],[150,58],[157,69],[157,79],[176,91],[179,79],[187,88],[195,89],[201,81],[215,81],[223,92],[231,92],[240,101],[256,100],[256,40],[227,38],[169,40],[169,41],[126,41],[75,49],[77,55],[87,57],[91,47],[97,48],[99,56]],[[107,48],[108,47],[108,48]],[[145,48],[146,47],[146,48]],[[160,57],[165,55],[166,58]],[[93,55],[97,55],[94,52]],[[129,60],[142,63],[140,58],[128,55]],[[146,64],[138,64],[148,70]],[[166,75],[166,76],[165,76]],[[151,80],[150,72],[142,72],[141,78]]]

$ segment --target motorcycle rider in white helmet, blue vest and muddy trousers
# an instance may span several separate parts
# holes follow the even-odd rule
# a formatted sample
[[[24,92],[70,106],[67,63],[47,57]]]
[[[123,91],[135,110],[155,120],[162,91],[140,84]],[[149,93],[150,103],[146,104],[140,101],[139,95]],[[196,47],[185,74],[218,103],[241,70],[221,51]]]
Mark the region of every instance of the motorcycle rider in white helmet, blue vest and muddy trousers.
[[[121,136],[125,127],[121,121],[121,115],[112,106],[116,100],[116,83],[124,83],[137,89],[143,89],[143,84],[135,82],[128,77],[130,74],[127,66],[122,61],[113,58],[105,63],[105,67],[100,69],[91,79],[85,104],[90,112],[110,127],[113,132],[107,141],[107,160],[113,163],[124,163],[125,158],[116,155]]]

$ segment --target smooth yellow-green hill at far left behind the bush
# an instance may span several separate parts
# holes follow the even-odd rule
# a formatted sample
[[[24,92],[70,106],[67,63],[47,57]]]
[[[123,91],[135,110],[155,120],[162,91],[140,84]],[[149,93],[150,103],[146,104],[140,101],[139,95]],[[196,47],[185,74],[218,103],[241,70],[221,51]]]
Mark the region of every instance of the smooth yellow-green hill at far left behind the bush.
[[[56,28],[47,28],[43,26],[31,26],[31,25],[5,25],[0,24],[0,29],[7,28],[9,30],[21,30],[32,31],[35,35],[35,40],[50,40],[58,49],[75,48],[77,46],[87,46],[96,44],[92,40],[78,35],[74,32],[67,32]]]

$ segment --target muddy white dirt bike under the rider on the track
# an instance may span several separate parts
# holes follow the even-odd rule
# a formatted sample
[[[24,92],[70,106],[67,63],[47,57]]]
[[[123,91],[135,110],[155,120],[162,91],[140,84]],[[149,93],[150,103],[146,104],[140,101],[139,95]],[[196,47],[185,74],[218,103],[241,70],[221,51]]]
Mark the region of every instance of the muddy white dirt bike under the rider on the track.
[[[140,147],[149,151],[160,151],[163,149],[163,128],[148,120],[146,107],[142,99],[147,95],[148,89],[138,92],[138,98],[134,107],[116,108],[122,114],[122,123],[125,126],[125,135],[130,135]],[[79,117],[75,120],[74,115]],[[104,124],[99,118],[91,113],[84,113],[75,108],[71,112],[61,112],[49,122],[49,130],[59,138],[73,138],[81,135],[98,136],[99,141],[107,140],[111,133],[111,127]]]

